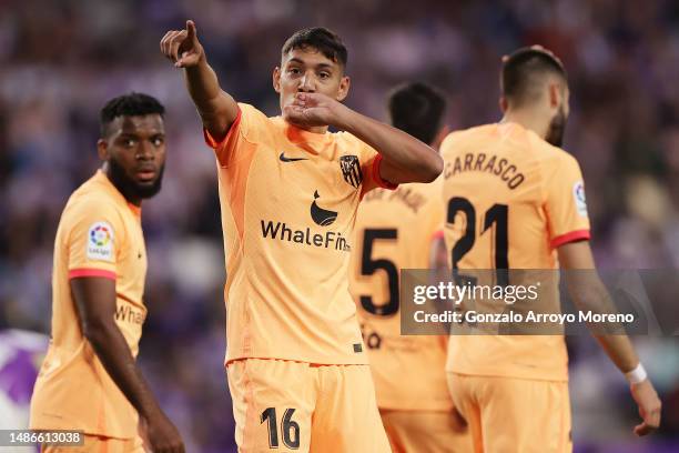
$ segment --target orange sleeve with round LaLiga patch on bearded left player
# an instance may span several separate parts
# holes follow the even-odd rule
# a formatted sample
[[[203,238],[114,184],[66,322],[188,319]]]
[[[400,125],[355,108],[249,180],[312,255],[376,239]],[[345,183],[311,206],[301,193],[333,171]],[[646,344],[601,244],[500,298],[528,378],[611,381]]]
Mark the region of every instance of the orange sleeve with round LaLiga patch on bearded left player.
[[[103,276],[115,280],[125,231],[120,213],[105,201],[88,200],[70,213],[65,235],[69,279]]]

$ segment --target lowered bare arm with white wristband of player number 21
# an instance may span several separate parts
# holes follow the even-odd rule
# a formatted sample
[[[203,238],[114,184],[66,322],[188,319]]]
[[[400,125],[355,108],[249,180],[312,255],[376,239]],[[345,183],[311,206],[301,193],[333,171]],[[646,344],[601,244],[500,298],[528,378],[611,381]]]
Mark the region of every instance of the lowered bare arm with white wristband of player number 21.
[[[566,270],[565,279],[576,306],[599,313],[612,313],[615,306],[608,291],[595,271],[595,262],[588,241],[564,244],[558,248],[559,264]],[[568,272],[568,270],[592,270],[592,272]],[[660,400],[640,368],[639,358],[629,338],[625,334],[601,334],[592,332],[606,354],[618,370],[630,381],[630,392],[642,422],[635,426],[635,434],[649,434],[660,425]]]

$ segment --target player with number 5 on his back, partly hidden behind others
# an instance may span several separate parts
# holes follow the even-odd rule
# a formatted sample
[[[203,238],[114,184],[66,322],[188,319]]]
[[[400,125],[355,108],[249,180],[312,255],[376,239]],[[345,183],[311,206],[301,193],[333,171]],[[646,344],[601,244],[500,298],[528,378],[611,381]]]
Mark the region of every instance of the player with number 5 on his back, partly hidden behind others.
[[[446,101],[424,83],[396,89],[392,125],[437,149],[448,129]],[[377,406],[394,452],[464,452],[460,425],[446,383],[447,336],[402,336],[398,271],[427,269],[440,230],[440,179],[366,194],[356,217],[349,289],[367,346]],[[407,383],[407,384],[404,384]]]

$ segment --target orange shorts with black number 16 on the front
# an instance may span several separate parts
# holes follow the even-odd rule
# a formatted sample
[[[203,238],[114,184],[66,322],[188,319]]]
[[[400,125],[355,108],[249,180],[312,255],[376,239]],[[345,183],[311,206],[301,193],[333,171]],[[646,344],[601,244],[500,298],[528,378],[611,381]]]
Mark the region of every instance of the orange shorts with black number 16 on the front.
[[[389,452],[368,365],[244,359],[226,368],[239,452]]]

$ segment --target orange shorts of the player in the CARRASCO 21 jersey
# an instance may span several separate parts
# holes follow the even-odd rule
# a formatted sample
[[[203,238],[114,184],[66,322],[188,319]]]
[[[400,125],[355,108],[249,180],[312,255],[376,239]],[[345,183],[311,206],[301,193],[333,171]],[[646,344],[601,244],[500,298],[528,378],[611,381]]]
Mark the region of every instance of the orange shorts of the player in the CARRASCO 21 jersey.
[[[476,453],[569,453],[568,382],[448,373]]]

